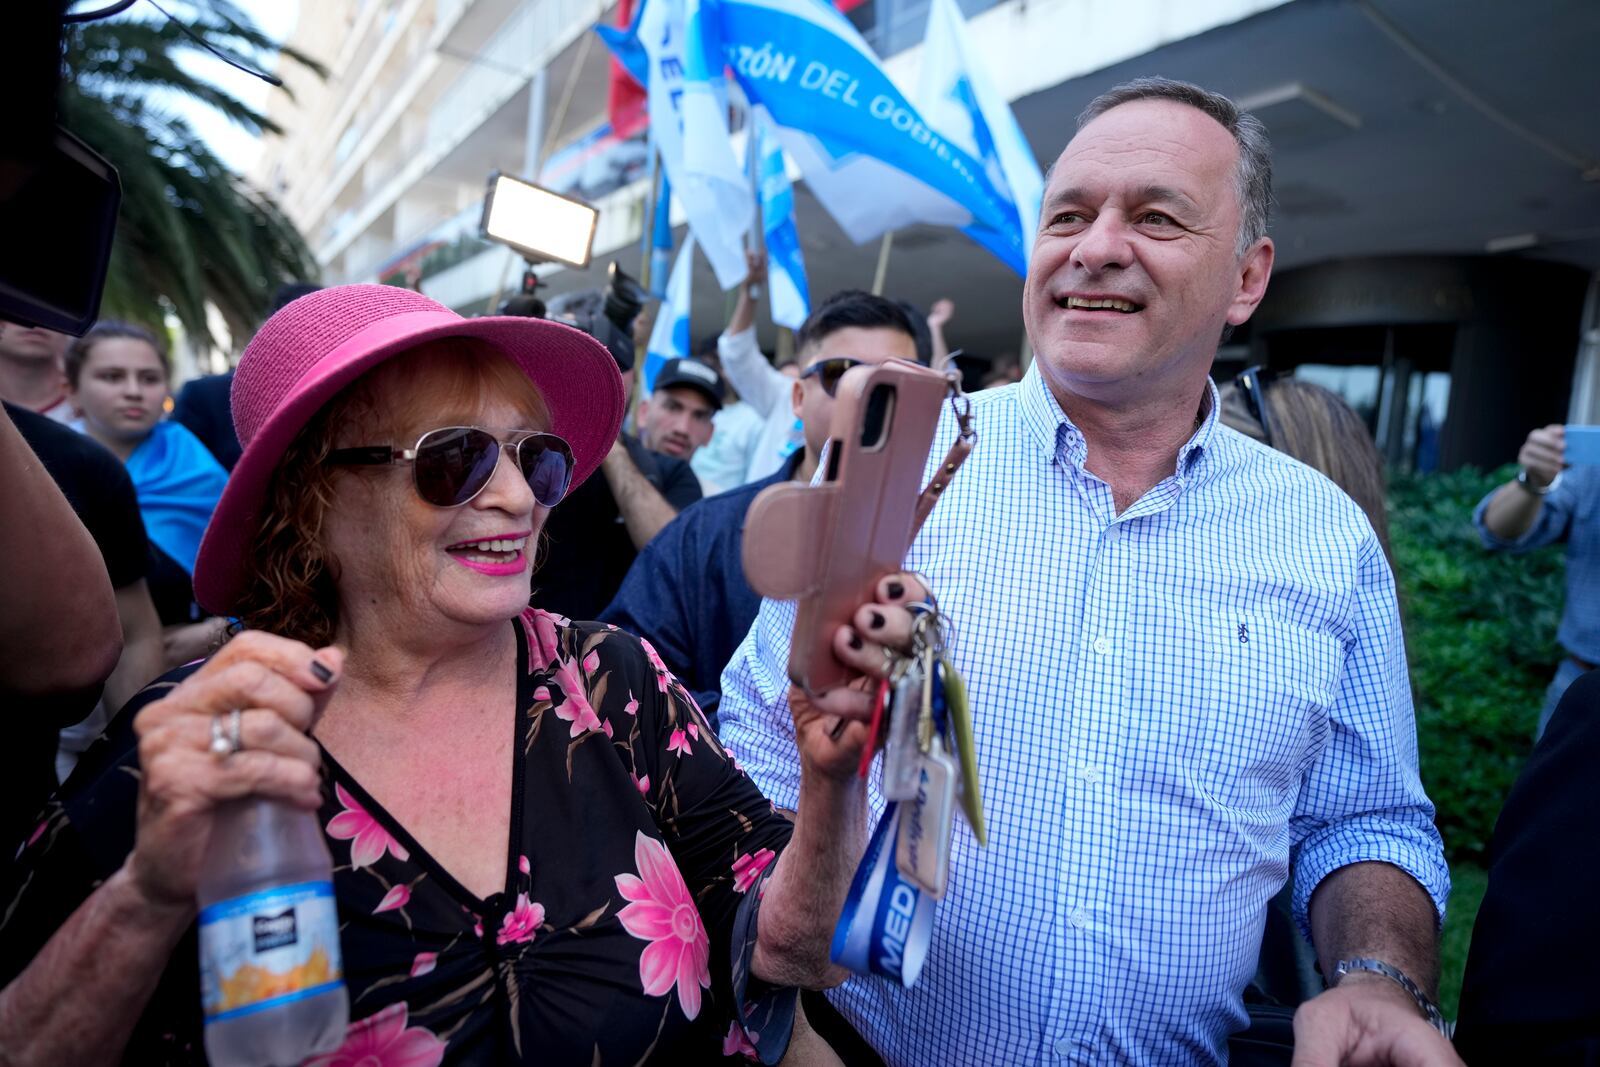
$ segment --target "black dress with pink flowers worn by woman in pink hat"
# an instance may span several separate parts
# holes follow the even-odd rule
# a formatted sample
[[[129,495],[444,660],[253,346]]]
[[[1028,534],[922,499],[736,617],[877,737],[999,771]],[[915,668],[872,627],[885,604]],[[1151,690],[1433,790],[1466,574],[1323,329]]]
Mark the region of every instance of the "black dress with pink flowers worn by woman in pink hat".
[[[722,749],[648,643],[530,609],[512,849],[480,899],[323,753],[350,1029],[315,1067],[774,1062],[794,990],[749,974],[789,822]],[[10,981],[133,846],[131,718],[118,715],[19,854],[0,921]],[[742,1025],[741,1025],[742,1022]],[[123,1062],[202,1064],[194,929]]]

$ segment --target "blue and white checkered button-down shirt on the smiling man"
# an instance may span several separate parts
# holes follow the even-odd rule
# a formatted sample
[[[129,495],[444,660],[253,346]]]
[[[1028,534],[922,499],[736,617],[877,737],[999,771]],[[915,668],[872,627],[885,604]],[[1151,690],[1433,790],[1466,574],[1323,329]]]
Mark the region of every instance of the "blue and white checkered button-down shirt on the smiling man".
[[[890,1064],[1219,1062],[1291,864],[1302,926],[1358,861],[1443,915],[1389,565],[1331,482],[1218,424],[1214,387],[1122,515],[1037,366],[973,406],[907,566],[954,625],[989,848],[957,819],[915,989],[832,998]],[[930,467],[954,434],[946,413]],[[722,683],[723,741],[789,808],[794,616],[765,601]]]

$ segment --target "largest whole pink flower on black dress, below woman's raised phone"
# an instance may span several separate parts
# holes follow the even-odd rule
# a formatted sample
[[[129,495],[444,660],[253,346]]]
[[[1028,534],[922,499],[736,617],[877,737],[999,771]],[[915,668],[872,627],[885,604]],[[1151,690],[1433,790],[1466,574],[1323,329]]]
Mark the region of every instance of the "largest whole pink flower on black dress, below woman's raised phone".
[[[638,875],[618,875],[616,891],[629,901],[618,912],[622,929],[650,942],[638,957],[638,981],[646,997],[662,997],[675,985],[678,1006],[693,1019],[701,990],[710,989],[706,925],[666,845],[635,830],[634,864]]]

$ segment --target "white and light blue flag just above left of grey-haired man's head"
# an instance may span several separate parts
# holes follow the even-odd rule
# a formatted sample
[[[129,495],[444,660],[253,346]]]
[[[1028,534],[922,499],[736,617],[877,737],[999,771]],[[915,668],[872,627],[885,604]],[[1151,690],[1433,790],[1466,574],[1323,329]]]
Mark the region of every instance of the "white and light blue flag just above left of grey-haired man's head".
[[[917,106],[933,128],[968,155],[982,162],[989,182],[1006,197],[1016,213],[1022,243],[1022,270],[1030,237],[1038,227],[1045,176],[1038,170],[1034,149],[1011,114],[1000,90],[989,80],[978,56],[966,43],[966,22],[955,0],[933,0],[928,8],[928,32],[922,43],[922,82]],[[973,234],[989,246],[990,234]],[[990,248],[1006,259],[1006,251]]]

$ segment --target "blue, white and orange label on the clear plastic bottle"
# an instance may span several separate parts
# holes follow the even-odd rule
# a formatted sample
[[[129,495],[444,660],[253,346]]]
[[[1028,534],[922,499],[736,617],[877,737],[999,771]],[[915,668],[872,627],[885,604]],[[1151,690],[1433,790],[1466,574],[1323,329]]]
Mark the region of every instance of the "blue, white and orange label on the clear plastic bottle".
[[[208,1024],[317,997],[342,981],[331,881],[274,886],[200,912],[200,1005]]]

